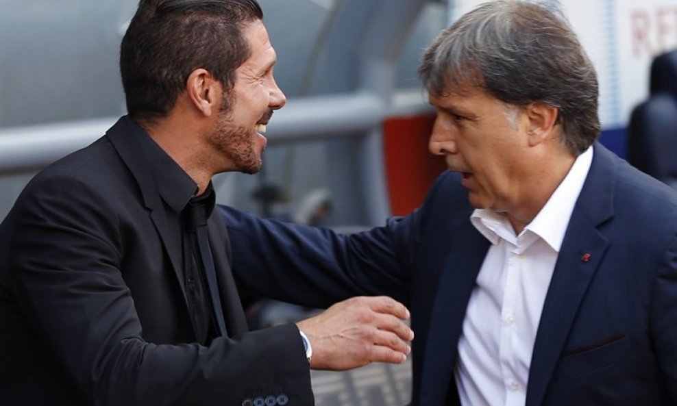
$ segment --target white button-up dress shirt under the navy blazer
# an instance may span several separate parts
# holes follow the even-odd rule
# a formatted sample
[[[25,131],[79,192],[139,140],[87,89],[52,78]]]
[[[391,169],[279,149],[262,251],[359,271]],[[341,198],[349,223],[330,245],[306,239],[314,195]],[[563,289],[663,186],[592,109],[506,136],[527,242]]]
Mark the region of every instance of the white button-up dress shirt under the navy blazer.
[[[592,147],[578,156],[519,235],[501,214],[473,212],[472,224],[491,246],[458,342],[455,377],[461,405],[524,405],[545,294],[592,156]]]

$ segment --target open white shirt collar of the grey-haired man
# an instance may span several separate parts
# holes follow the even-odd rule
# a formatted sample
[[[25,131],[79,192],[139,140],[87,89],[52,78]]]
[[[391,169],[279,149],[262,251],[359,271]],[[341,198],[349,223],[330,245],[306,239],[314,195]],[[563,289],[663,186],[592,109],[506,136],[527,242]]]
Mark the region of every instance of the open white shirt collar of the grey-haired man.
[[[537,216],[522,231],[521,236],[534,233],[542,238],[552,249],[559,252],[564,240],[571,213],[578,200],[580,190],[588,175],[592,163],[593,148],[588,147],[584,153],[576,157],[569,173],[550,195]],[[499,213],[488,209],[476,209],[471,215],[471,223],[487,238],[491,244],[498,244],[500,239],[517,245],[517,236],[508,220]]]

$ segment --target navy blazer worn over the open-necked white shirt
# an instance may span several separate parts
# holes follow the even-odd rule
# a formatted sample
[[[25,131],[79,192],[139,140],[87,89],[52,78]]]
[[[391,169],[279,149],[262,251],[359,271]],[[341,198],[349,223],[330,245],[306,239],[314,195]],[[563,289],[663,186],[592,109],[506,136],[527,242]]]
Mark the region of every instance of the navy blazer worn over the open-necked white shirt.
[[[356,294],[408,305],[413,405],[458,404],[458,338],[490,243],[457,175],[443,173],[412,214],[352,236],[221,211],[246,288],[311,306]],[[677,405],[677,194],[599,143],[543,305],[526,405]]]

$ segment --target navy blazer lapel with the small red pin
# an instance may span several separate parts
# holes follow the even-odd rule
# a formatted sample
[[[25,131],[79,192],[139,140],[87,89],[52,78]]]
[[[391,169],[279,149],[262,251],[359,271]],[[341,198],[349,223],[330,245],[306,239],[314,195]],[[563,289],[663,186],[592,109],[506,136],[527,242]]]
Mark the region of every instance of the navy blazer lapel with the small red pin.
[[[593,163],[571,214],[545,296],[532,353],[526,406],[537,406],[543,401],[580,302],[608,247],[608,240],[597,227],[613,216],[613,166],[611,152],[595,143]]]

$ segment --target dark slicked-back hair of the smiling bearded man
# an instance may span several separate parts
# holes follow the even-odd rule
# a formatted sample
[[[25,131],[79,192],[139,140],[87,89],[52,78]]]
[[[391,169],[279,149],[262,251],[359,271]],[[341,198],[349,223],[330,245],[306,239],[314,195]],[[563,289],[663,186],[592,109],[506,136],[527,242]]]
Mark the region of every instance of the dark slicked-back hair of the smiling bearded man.
[[[127,112],[145,122],[167,116],[197,68],[230,92],[251,54],[241,29],[262,18],[256,0],[141,0],[120,51]]]

